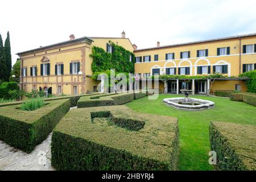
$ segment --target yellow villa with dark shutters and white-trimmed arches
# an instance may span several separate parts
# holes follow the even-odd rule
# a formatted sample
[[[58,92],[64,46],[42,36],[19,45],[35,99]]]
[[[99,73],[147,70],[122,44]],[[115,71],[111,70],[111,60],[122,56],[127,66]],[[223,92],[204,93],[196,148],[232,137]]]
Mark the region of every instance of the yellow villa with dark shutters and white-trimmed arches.
[[[237,78],[243,72],[256,69],[256,34],[230,36],[170,46],[137,49],[125,38],[84,37],[18,53],[21,59],[20,87],[45,90],[52,94],[84,94],[96,92],[98,82],[90,76],[92,47],[112,52],[109,40],[134,52],[135,73],[141,79],[152,75],[203,76],[220,73],[227,78],[170,79],[159,81],[162,93],[209,94],[216,90],[247,90],[246,78]],[[80,73],[80,74],[79,74]]]

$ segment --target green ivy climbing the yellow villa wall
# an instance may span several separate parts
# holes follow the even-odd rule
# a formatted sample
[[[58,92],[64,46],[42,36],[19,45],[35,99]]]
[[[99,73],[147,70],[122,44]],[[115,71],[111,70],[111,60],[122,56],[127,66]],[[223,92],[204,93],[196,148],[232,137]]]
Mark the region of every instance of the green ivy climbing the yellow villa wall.
[[[134,73],[134,53],[113,42],[109,41],[109,44],[112,46],[112,53],[106,52],[101,47],[92,47],[92,54],[90,55],[93,58],[92,72],[105,72],[115,69],[119,73]]]

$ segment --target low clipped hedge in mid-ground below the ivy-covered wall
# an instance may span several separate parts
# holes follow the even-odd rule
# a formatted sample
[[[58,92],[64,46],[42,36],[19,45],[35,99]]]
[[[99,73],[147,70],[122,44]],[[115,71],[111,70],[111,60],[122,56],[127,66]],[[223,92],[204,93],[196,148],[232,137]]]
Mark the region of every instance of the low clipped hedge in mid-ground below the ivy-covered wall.
[[[77,102],[77,107],[100,107],[122,105],[134,100],[134,93],[106,93],[97,96],[81,97]]]

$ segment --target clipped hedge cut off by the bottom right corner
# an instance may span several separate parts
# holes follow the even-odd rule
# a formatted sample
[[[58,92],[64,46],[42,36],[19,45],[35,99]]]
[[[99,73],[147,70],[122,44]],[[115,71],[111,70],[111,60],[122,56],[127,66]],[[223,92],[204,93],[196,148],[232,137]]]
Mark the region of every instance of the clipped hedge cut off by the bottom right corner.
[[[217,167],[225,171],[256,170],[256,126],[211,122],[210,148]]]

